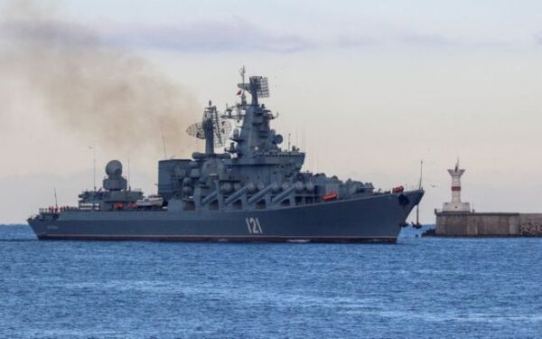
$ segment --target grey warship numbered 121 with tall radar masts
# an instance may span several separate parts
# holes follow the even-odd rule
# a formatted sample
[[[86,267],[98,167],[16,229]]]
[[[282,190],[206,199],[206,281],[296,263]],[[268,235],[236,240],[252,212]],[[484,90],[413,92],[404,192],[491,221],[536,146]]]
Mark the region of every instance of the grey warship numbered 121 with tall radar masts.
[[[28,219],[38,239],[396,242],[421,184],[382,191],[304,171],[305,153],[281,146],[271,128],[278,115],[260,102],[269,97],[267,79],[246,79],[244,68],[241,77],[236,105],[219,111],[210,102],[187,130],[205,140],[205,152],[158,162],[157,194],[132,190],[112,160],[102,188],[79,194],[78,206]]]

